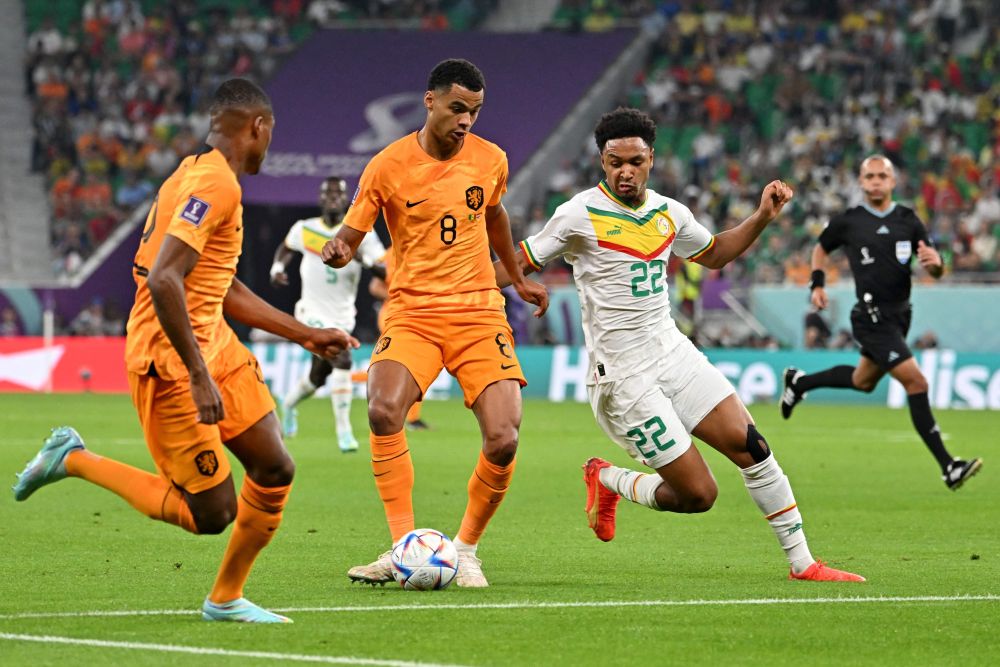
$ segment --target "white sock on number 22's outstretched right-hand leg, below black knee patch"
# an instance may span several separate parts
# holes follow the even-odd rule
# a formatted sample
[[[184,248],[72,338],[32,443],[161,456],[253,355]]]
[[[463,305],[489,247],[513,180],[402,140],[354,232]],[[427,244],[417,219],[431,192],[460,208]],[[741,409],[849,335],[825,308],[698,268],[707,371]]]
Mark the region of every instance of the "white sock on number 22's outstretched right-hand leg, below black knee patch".
[[[795,504],[792,485],[771,454],[760,463],[740,470],[750,497],[771,524],[778,543],[785,550],[788,562],[796,574],[815,561],[802,530],[802,515]]]

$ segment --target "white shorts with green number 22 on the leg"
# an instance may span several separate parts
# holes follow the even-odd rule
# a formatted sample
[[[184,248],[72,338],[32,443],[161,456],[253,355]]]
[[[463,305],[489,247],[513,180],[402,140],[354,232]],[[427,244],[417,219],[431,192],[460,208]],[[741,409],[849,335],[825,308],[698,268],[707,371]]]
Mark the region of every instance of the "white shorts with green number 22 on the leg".
[[[588,391],[594,417],[608,437],[656,469],[686,452],[691,431],[736,390],[684,339],[648,368]]]

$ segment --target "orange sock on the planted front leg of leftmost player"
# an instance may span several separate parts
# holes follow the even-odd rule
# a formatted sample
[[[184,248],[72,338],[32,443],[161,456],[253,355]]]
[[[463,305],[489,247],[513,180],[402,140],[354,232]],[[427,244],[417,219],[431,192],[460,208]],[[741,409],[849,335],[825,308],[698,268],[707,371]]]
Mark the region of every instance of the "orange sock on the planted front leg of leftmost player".
[[[236,522],[229,536],[226,554],[222,557],[215,586],[208,596],[221,604],[243,597],[243,584],[257,554],[268,545],[281,523],[281,514],[292,485],[263,487],[249,476],[243,478],[239,500],[236,501]]]

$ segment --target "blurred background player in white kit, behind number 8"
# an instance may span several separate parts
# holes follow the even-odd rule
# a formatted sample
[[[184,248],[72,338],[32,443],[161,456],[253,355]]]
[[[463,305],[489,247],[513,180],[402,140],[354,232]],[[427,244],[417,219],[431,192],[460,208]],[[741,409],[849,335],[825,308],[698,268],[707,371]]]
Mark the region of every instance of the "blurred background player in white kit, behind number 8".
[[[331,327],[351,331],[354,329],[361,281],[362,265],[372,268],[385,254],[377,234],[369,234],[358,248],[357,261],[342,269],[323,264],[320,252],[323,245],[337,233],[347,211],[347,183],[339,176],[323,181],[319,191],[320,216],[299,220],[288,230],[285,240],[274,252],[271,265],[271,282],[276,286],[288,284],[285,267],[295,253],[302,255],[299,275],[302,277],[302,298],[295,304],[295,319],[311,327]],[[337,444],[342,452],[358,451],[358,441],[351,428],[351,351],[345,349],[332,362],[313,355],[309,373],[281,402],[281,428],[285,437],[298,431],[298,411],[295,406],[312,396],[333,375],[330,400],[333,403]]]

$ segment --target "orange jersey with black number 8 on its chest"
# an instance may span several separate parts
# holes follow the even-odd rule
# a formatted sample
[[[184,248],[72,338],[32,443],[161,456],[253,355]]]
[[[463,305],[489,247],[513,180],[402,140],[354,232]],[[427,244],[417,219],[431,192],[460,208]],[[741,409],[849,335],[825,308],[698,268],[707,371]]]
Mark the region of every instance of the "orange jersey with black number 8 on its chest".
[[[485,222],[506,191],[507,155],[473,134],[449,160],[424,152],[416,132],[372,158],[344,224],[370,232],[385,216],[395,260],[387,319],[503,308]]]

